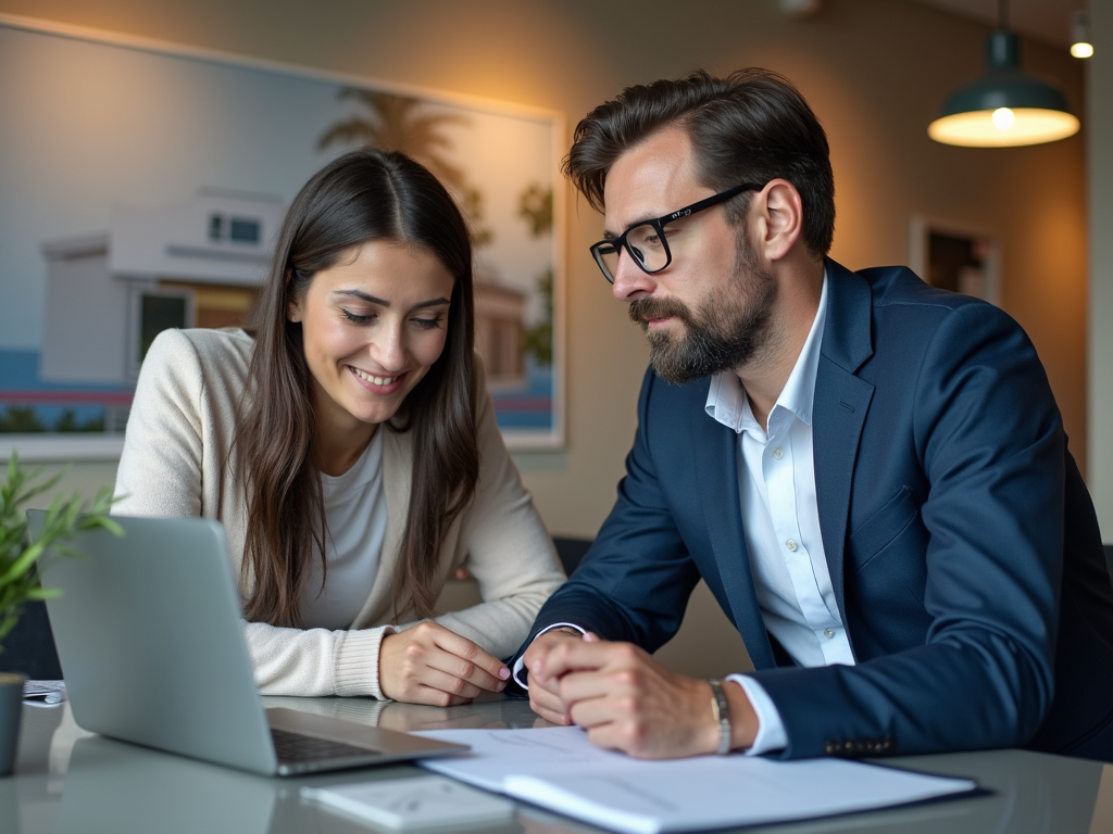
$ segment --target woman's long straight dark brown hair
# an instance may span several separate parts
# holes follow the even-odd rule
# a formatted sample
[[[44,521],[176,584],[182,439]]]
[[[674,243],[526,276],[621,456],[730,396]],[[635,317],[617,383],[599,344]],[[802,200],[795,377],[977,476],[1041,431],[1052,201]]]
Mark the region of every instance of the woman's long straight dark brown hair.
[[[410,509],[393,587],[395,616],[432,614],[441,540],[475,492],[476,369],[467,227],[444,187],[408,157],[374,149],[345,153],[294,198],[252,316],[255,354],[236,437],[237,463],[248,487],[243,578],[252,588],[245,600],[252,622],[299,626],[298,600],[312,559],[319,558],[326,567],[311,374],[302,326],[287,319],[287,310],[304,297],[317,271],[371,240],[430,251],[455,278],[444,351],[400,414],[380,429],[413,433]]]

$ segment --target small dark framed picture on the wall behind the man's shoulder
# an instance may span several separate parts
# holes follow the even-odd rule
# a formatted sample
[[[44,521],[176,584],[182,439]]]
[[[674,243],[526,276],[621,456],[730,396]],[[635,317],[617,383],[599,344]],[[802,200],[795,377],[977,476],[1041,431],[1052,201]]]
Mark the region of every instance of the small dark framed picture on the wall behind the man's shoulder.
[[[913,216],[908,266],[933,287],[1001,304],[1001,247],[985,229]]]

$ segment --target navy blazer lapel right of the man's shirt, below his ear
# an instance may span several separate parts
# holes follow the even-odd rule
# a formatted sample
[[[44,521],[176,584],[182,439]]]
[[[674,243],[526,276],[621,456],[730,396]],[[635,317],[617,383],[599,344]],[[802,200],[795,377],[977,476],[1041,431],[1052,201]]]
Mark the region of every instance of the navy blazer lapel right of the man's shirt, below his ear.
[[[865,279],[833,260],[827,261],[827,318],[812,406],[812,454],[827,569],[846,624],[843,593],[846,526],[858,444],[874,397],[874,386],[855,376],[855,371],[874,353],[873,297]]]

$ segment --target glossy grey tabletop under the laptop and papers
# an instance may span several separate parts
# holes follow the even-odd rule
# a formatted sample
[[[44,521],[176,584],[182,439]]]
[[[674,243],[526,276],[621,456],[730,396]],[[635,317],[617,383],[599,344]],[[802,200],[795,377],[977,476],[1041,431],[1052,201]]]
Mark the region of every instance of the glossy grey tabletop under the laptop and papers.
[[[525,702],[492,698],[436,708],[362,698],[264,698],[267,706],[378,724],[392,729],[549,726]],[[747,832],[940,832],[987,834],[1113,833],[1113,765],[1025,751],[987,751],[884,759],[885,764],[967,776],[985,793]],[[285,834],[376,831],[299,795],[333,785],[422,774],[380,766],[296,778],[264,778],[137,747],[80,729],[68,704],[24,706],[16,774],[0,778],[3,834]],[[474,828],[472,831],[475,831]],[[512,823],[483,831],[571,834],[591,826],[519,805]]]

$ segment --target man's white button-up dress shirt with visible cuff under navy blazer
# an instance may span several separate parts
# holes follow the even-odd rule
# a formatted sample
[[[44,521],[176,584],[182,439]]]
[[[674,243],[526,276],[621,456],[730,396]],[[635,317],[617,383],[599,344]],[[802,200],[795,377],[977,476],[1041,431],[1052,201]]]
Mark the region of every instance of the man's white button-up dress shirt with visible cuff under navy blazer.
[[[827,278],[800,356],[766,426],[732,371],[711,378],[707,414],[738,433],[738,492],[750,574],[766,628],[801,666],[854,665],[819,532],[811,447],[811,406],[827,310]],[[750,753],[787,743],[784,723],[757,681],[731,675],[746,689],[760,729]]]

